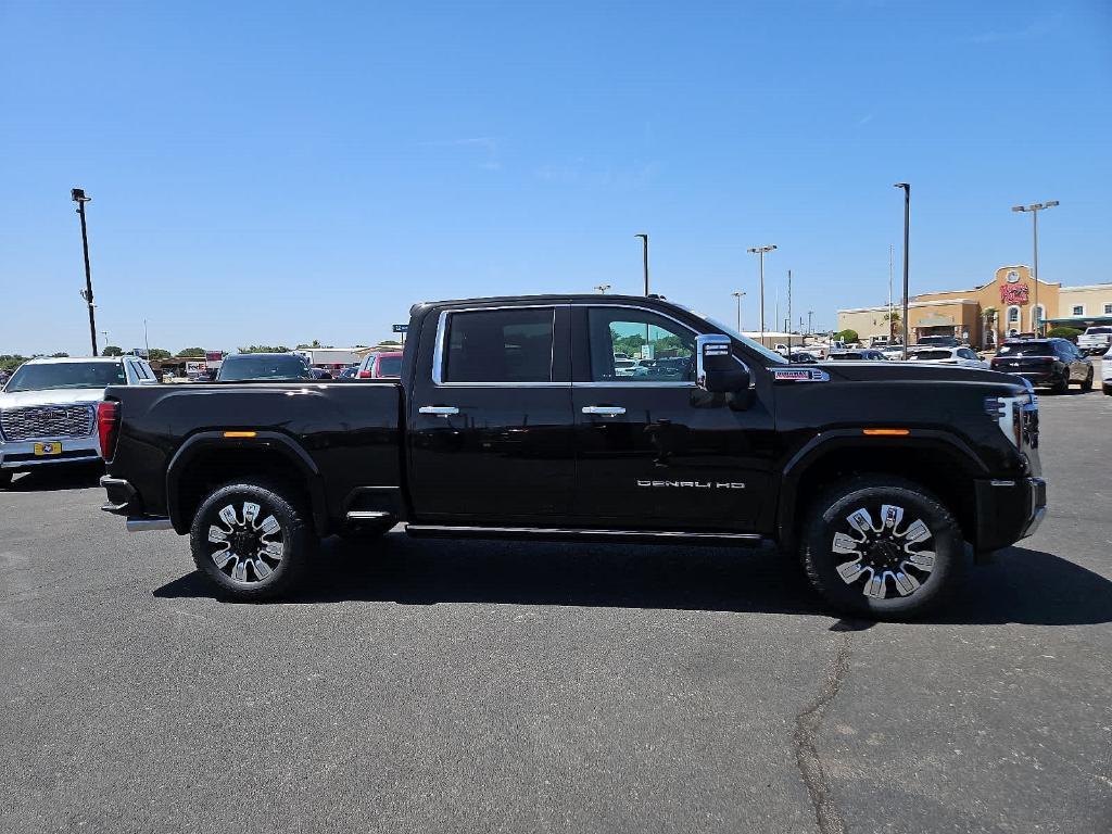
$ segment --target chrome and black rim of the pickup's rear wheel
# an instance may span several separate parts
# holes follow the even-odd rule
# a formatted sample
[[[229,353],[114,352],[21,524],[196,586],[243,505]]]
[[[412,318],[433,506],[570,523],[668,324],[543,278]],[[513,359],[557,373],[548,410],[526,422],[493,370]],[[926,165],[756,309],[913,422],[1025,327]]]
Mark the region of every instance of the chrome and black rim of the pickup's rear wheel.
[[[281,564],[281,525],[272,515],[259,520],[261,515],[261,507],[252,502],[244,502],[238,510],[228,504],[217,514],[219,523],[209,525],[212,563],[239,585],[257,585]]]

